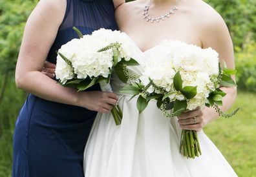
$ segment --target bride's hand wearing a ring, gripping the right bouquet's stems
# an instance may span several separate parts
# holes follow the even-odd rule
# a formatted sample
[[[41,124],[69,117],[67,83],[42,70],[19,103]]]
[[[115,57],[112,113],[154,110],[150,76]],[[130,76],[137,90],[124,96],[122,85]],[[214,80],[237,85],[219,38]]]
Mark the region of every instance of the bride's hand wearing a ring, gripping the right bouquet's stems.
[[[185,130],[202,130],[202,128],[208,123],[206,118],[206,109],[189,110],[178,116],[178,123],[180,128]]]

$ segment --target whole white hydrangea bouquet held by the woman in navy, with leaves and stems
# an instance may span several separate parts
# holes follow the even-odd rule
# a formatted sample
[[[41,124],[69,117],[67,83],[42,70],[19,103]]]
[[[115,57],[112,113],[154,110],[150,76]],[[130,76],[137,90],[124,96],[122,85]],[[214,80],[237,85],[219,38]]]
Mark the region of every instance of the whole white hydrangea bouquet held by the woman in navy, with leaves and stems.
[[[109,81],[113,71],[127,82],[126,67],[138,63],[131,58],[134,45],[126,34],[101,28],[83,36],[76,27],[74,30],[80,39],[72,39],[58,50],[56,78],[61,85],[81,91],[100,83],[101,90],[112,92]],[[111,113],[119,125],[122,121],[119,105]]]

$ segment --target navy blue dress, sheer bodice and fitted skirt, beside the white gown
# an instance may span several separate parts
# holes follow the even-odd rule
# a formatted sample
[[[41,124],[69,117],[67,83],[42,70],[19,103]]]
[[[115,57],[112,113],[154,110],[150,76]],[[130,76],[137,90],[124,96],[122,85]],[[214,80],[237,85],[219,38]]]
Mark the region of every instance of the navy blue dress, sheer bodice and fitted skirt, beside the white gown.
[[[78,37],[72,26],[82,34],[99,28],[116,30],[112,0],[67,0],[48,61],[56,63],[56,50]],[[83,150],[95,116],[94,111],[29,94],[16,121],[12,176],[83,177]]]

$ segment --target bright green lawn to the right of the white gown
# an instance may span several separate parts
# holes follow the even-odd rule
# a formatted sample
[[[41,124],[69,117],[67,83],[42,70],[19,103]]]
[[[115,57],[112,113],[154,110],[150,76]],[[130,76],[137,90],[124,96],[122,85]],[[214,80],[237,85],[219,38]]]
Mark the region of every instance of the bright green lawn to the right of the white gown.
[[[256,95],[239,92],[233,109],[237,107],[240,110],[235,116],[213,121],[204,132],[239,177],[256,177]]]

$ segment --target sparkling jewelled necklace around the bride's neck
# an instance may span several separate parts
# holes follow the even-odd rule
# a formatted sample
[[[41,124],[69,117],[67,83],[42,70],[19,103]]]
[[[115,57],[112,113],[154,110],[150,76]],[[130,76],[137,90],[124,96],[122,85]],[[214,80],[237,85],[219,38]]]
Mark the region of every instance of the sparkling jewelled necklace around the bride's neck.
[[[169,18],[172,14],[174,14],[175,10],[178,10],[178,5],[177,6],[173,6],[173,8],[171,8],[171,10],[169,10],[166,14],[162,15],[162,16],[158,16],[158,17],[151,17],[149,16],[149,6],[151,5],[151,1],[149,1],[148,5],[145,5],[144,7],[144,13],[143,13],[143,18],[145,19],[145,21],[149,22],[151,21],[151,23],[159,22],[161,19],[162,21],[164,21],[165,18]]]

